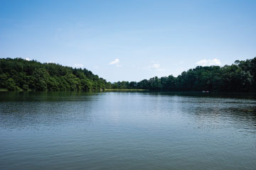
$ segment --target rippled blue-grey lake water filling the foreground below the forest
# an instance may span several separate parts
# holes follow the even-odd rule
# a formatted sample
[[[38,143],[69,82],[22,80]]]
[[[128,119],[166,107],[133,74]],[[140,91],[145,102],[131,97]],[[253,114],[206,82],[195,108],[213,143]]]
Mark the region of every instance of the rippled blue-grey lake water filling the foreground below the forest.
[[[256,169],[248,94],[0,93],[0,169]]]

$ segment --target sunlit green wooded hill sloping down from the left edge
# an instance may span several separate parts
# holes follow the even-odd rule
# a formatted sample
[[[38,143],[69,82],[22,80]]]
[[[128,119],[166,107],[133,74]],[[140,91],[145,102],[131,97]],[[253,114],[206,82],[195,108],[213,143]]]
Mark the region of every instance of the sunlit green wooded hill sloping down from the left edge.
[[[60,64],[0,59],[0,88],[9,91],[98,91],[111,86],[87,69]]]

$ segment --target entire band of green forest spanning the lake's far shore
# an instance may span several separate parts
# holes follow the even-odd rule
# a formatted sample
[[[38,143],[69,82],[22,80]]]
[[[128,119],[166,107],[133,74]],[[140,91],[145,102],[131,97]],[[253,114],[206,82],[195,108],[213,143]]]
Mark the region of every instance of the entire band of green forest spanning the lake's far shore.
[[[107,82],[87,69],[21,58],[0,59],[0,88],[9,91],[102,91],[146,89],[151,91],[256,91],[256,57],[224,67],[196,67],[178,77]]]

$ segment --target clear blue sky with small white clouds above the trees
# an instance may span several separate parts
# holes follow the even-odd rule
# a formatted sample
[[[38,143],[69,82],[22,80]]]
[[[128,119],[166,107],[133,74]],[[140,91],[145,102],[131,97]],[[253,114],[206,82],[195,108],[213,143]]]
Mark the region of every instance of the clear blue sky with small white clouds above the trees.
[[[140,81],[255,56],[256,1],[0,0],[1,58]]]

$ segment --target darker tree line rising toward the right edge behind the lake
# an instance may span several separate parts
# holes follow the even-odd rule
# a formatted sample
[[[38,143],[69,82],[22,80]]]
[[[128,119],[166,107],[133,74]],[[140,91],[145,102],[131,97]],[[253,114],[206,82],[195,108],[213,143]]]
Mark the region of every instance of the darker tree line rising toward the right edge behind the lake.
[[[236,60],[224,67],[198,66],[178,77],[153,77],[135,81],[118,81],[112,89],[148,89],[151,91],[256,91],[256,57]]]

